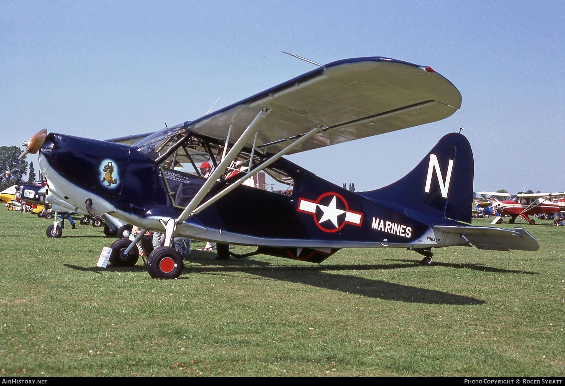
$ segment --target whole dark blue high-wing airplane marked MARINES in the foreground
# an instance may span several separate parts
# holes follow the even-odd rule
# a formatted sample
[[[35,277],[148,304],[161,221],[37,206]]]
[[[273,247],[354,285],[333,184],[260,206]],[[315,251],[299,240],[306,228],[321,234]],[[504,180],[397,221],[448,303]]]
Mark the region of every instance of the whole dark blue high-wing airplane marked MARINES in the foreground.
[[[73,207],[142,229],[133,242],[112,243],[111,264],[135,264],[146,230],[165,233],[164,246],[146,262],[152,277],[180,275],[173,235],[314,263],[342,247],[408,248],[424,256],[423,264],[431,263],[431,248],[454,245],[537,250],[524,229],[462,223],[471,222],[474,166],[461,134],[441,138],[396,183],[367,192],[347,191],[282,158],[438,121],[460,102],[457,88],[430,67],[344,59],[133,145],[50,133],[38,140],[39,160],[53,194],[64,191]],[[186,170],[172,169],[177,162]],[[200,162],[212,166],[210,173],[201,175]],[[262,170],[288,185],[288,194],[244,185]],[[225,247],[219,254],[243,257]]]

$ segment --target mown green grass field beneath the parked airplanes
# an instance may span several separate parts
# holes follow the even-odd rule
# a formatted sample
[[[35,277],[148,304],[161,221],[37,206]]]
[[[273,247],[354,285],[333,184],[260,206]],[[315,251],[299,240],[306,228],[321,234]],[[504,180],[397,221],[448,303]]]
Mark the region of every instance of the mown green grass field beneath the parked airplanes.
[[[193,251],[167,281],[141,259],[96,267],[102,228],[49,239],[49,220],[0,208],[1,375],[564,376],[565,229],[539,222],[518,225],[537,252]]]

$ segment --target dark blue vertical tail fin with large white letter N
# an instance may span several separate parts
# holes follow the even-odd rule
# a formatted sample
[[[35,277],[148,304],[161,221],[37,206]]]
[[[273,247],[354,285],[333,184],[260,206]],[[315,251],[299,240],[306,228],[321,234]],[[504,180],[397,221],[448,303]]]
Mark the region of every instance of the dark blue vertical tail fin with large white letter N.
[[[471,223],[474,169],[469,141],[450,133],[405,177],[360,195],[425,224]]]

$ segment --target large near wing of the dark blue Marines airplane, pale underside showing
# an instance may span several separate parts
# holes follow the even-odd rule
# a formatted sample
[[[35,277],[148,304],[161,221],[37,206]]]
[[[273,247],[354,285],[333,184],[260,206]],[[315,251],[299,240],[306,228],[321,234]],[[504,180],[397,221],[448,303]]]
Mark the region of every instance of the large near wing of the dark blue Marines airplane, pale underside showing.
[[[319,67],[185,127],[225,140],[233,125],[235,139],[266,107],[272,111],[259,128],[257,147],[271,153],[318,124],[328,127],[289,152],[297,153],[439,121],[460,106],[458,89],[429,67],[353,58]]]

